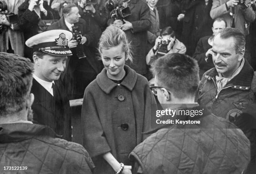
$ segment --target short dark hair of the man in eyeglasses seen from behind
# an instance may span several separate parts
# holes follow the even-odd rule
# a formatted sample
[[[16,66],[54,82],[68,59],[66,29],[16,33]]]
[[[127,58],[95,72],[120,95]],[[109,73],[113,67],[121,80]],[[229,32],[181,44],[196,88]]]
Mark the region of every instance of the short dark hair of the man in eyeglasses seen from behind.
[[[166,54],[157,59],[151,71],[159,86],[174,93],[174,97],[184,99],[195,96],[199,85],[197,61],[180,53]]]

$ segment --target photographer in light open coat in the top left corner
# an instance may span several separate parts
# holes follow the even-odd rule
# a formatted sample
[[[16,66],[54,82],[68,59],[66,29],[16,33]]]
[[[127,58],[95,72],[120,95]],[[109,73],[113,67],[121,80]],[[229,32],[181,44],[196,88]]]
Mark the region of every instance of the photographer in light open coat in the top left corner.
[[[24,36],[18,26],[18,7],[24,0],[0,0],[0,52],[24,55]]]

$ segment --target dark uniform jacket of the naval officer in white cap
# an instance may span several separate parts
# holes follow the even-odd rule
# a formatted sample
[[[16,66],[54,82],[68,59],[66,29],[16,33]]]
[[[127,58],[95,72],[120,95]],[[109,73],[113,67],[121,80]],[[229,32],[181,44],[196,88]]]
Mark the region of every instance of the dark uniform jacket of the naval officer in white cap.
[[[51,127],[61,138],[71,141],[71,119],[69,100],[65,95],[61,83],[56,83],[59,97],[52,96],[43,86],[33,79],[31,93],[35,100],[32,104],[33,123]]]

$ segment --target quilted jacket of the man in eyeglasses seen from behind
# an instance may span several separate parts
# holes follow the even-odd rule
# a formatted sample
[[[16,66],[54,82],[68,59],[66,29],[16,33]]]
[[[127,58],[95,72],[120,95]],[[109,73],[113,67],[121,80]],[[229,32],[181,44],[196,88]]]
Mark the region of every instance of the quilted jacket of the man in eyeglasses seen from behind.
[[[243,132],[213,114],[198,120],[201,124],[159,129],[133,149],[131,159],[143,174],[241,174],[250,161]]]

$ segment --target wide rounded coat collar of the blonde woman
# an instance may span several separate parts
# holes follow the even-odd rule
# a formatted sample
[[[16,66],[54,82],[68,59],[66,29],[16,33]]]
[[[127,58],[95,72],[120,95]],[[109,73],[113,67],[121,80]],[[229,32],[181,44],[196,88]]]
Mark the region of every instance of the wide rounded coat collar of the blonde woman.
[[[137,74],[127,65],[124,66],[124,69],[126,72],[126,76],[120,85],[123,85],[131,91],[136,84]],[[114,87],[118,86],[115,82],[108,78],[107,70],[105,68],[103,68],[100,74],[97,75],[96,82],[100,86],[100,89],[102,89],[102,91],[107,94],[109,94]]]

